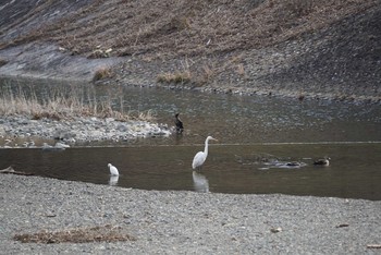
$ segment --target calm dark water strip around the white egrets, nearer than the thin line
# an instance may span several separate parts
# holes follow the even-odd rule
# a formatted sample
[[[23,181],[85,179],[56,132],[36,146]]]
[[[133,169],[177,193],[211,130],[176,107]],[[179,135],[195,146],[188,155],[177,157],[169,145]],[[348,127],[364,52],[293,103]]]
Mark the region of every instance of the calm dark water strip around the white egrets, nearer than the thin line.
[[[0,161],[38,175],[134,189],[381,199],[381,144],[212,145],[202,169],[193,172],[201,147],[2,149]],[[331,165],[314,166],[316,155],[329,155]],[[302,167],[287,167],[291,161]],[[109,175],[108,162],[119,178]]]

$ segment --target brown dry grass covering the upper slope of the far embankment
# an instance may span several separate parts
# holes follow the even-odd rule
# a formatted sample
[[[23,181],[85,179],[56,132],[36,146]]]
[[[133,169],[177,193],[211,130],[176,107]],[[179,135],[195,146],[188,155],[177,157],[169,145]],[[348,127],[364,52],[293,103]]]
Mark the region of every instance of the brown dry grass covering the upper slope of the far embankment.
[[[56,1],[40,3],[39,8],[28,12],[25,19],[30,23],[33,19],[41,16],[48,19],[49,15],[42,14],[49,12],[52,4],[56,4]],[[94,49],[100,45],[103,49],[112,48],[112,52],[108,56],[147,56],[156,52],[169,57],[208,56],[274,45],[304,33],[329,27],[341,19],[373,8],[376,4],[380,2],[378,0],[96,1],[88,5],[81,4],[76,11],[54,22],[39,22],[45,25],[21,33],[21,36],[8,44],[54,40],[73,53],[95,58],[105,57],[94,53]],[[7,42],[3,47],[5,46]]]

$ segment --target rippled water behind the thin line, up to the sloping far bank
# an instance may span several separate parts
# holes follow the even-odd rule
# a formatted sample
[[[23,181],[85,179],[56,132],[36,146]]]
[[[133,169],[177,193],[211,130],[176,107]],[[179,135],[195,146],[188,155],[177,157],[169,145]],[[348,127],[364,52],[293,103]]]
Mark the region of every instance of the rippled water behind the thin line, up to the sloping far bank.
[[[54,84],[54,87],[64,86]],[[2,84],[2,87],[11,83]],[[22,86],[17,82],[16,86]],[[25,84],[30,87],[30,81]],[[343,104],[330,100],[282,99],[263,96],[231,96],[167,89],[96,86],[83,87],[83,98],[111,97],[113,108],[124,112],[150,111],[159,123],[174,127],[173,117],[181,112],[183,135],[120,142],[122,145],[186,145],[199,137],[214,134],[221,143],[311,143],[364,142],[381,139],[381,107],[378,104]],[[11,86],[12,87],[12,86]],[[40,94],[51,90],[52,84],[36,84]],[[66,87],[70,87],[66,85]],[[30,89],[30,88],[29,88]],[[0,81],[1,90],[1,81]],[[67,89],[66,89],[67,90]],[[87,97],[86,92],[94,93]],[[114,97],[114,98],[113,98]],[[121,97],[123,100],[121,101]],[[24,141],[23,141],[24,142]],[[21,144],[23,144],[23,142]],[[87,145],[86,143],[82,145]],[[100,146],[110,145],[99,142]],[[114,143],[112,143],[114,146]]]

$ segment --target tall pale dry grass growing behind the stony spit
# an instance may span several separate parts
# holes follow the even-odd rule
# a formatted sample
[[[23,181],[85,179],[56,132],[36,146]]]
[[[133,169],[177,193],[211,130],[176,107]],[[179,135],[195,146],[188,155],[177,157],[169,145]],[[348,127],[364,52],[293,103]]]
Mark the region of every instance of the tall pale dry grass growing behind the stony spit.
[[[124,112],[122,92],[119,93],[118,99],[112,98],[111,92],[100,97],[93,86],[66,86],[51,88],[44,95],[39,94],[40,92],[37,93],[35,87],[28,87],[28,89],[21,86],[17,89],[4,87],[0,90],[0,114],[23,114],[35,120],[42,118],[62,120],[78,117],[114,118],[119,121],[155,120],[152,111],[130,110]],[[115,100],[119,101],[115,102]]]

